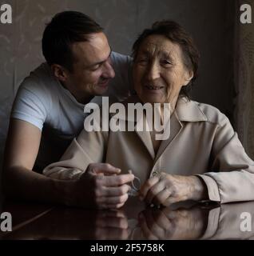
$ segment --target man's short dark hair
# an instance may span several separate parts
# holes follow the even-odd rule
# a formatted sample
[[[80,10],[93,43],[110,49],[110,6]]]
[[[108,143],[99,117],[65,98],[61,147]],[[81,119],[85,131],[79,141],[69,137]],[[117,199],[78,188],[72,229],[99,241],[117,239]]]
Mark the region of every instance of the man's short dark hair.
[[[77,11],[56,14],[42,37],[42,53],[49,65],[58,64],[73,71],[75,56],[71,46],[89,40],[89,35],[103,31],[89,16]]]

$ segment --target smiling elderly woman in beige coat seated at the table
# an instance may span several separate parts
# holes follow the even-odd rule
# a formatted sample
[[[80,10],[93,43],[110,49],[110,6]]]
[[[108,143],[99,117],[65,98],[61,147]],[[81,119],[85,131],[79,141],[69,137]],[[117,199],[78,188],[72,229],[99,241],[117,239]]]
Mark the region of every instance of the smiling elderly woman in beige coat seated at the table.
[[[253,162],[228,118],[215,107],[189,99],[198,59],[192,38],[181,26],[173,21],[154,23],[133,45],[137,97],[128,102],[170,103],[170,122],[161,118],[170,124],[169,138],[159,141],[154,131],[83,130],[61,161],[46,167],[44,174],[79,179],[94,164],[106,162],[122,174],[132,170],[137,177],[133,185],[139,189],[137,182],[141,182],[138,194],[148,203],[253,200]],[[122,189],[122,194],[128,190]]]

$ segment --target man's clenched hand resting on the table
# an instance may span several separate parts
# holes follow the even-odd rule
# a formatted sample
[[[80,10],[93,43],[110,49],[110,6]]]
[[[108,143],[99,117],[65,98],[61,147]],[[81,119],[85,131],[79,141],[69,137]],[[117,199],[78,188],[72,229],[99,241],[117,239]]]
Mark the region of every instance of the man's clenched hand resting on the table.
[[[77,181],[68,205],[97,209],[120,208],[128,199],[129,182],[133,174],[120,174],[121,170],[107,163],[92,163]]]

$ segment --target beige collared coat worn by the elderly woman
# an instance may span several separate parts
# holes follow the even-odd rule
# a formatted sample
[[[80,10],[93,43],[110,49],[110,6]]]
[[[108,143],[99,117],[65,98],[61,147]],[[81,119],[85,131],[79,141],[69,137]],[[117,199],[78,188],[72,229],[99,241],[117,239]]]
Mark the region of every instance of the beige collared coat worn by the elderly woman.
[[[133,122],[126,118],[123,122]],[[137,125],[137,124],[136,124]],[[254,162],[228,118],[215,107],[180,98],[170,119],[169,139],[154,153],[149,131],[86,132],[74,139],[60,162],[47,166],[51,178],[75,179],[92,162],[108,162],[149,177],[198,174],[212,201],[254,200]]]

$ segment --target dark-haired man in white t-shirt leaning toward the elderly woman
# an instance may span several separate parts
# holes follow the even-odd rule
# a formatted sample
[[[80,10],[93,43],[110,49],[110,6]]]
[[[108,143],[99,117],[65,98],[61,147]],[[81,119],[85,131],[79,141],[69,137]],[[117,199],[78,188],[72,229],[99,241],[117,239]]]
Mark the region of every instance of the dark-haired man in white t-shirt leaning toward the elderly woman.
[[[128,97],[130,58],[113,53],[101,26],[73,11],[57,14],[46,26],[42,51],[47,63],[22,82],[10,118],[3,172],[6,196],[69,206],[121,207],[133,174],[92,164],[77,181],[58,181],[40,171],[58,161],[79,134],[85,104],[100,104],[101,95],[108,95],[111,102]]]

